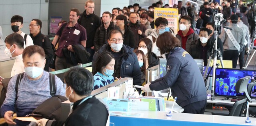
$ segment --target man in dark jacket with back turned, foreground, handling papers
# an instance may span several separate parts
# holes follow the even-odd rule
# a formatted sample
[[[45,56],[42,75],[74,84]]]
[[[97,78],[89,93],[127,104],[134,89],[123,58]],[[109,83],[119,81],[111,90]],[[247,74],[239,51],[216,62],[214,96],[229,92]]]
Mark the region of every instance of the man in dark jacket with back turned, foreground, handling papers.
[[[38,126],[109,126],[109,113],[105,104],[90,95],[94,81],[92,73],[74,66],[66,72],[64,79],[66,97],[74,103],[68,118],[66,121],[43,118],[37,120]]]

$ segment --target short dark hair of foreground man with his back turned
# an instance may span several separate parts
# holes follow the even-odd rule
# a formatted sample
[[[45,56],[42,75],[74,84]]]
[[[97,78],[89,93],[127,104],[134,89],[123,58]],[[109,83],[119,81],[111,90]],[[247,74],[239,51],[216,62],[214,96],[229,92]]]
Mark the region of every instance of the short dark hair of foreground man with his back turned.
[[[64,79],[67,86],[70,86],[77,95],[90,95],[94,83],[92,73],[79,66],[71,67],[65,73]]]

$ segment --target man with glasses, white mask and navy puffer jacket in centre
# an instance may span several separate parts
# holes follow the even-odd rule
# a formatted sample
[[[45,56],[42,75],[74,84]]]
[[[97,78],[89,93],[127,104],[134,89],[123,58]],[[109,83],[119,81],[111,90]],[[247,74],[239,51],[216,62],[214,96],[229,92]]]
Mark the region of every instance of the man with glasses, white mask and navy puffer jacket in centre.
[[[118,29],[108,33],[108,44],[103,45],[93,56],[92,70],[96,68],[96,60],[100,54],[110,52],[115,59],[114,74],[116,78],[133,78],[134,85],[140,85],[140,66],[133,49],[123,44],[123,34]],[[140,89],[137,89],[140,91]]]

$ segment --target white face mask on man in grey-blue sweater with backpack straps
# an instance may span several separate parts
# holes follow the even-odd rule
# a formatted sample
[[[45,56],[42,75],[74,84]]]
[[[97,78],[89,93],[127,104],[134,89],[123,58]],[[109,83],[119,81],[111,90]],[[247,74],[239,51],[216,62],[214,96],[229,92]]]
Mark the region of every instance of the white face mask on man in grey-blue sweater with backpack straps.
[[[44,65],[43,65],[44,66]],[[28,74],[28,76],[30,78],[37,78],[39,77],[42,72],[44,71],[43,69],[43,66],[42,67],[36,67],[36,66],[31,66],[31,67],[25,67],[25,72],[26,74]]]

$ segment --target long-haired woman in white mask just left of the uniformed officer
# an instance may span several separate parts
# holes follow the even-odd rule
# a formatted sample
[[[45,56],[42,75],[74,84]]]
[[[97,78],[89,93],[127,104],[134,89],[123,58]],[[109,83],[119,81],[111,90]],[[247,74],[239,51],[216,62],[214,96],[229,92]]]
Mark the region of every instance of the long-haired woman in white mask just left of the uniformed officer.
[[[152,52],[152,41],[150,39],[148,38],[140,39],[140,42],[137,47],[138,47],[138,50],[142,50],[142,52],[146,56],[146,60],[145,60],[146,69],[158,65],[158,58],[156,54]]]

